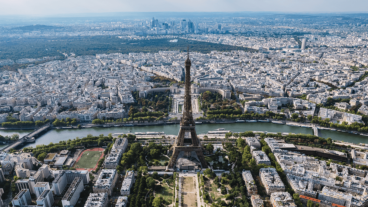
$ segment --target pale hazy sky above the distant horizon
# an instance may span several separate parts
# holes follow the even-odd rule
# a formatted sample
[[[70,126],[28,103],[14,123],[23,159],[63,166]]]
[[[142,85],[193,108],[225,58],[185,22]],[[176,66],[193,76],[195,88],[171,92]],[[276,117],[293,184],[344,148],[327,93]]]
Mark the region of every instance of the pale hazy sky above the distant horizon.
[[[368,0],[0,0],[0,5],[0,15],[121,11],[368,11]]]

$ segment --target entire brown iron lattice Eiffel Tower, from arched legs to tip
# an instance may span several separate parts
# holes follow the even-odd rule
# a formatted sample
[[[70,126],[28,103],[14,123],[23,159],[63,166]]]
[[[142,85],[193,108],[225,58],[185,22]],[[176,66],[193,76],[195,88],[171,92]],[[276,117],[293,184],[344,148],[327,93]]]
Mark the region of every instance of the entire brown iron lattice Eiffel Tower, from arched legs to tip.
[[[185,60],[185,92],[184,92],[184,110],[183,118],[180,122],[180,130],[178,137],[175,139],[170,151],[173,150],[173,155],[170,158],[167,168],[174,168],[178,158],[184,155],[188,157],[198,158],[202,168],[208,168],[203,156],[202,146],[198,140],[197,133],[195,132],[195,123],[192,115],[192,97],[190,92],[190,67],[192,63],[189,59],[189,47],[188,58]]]

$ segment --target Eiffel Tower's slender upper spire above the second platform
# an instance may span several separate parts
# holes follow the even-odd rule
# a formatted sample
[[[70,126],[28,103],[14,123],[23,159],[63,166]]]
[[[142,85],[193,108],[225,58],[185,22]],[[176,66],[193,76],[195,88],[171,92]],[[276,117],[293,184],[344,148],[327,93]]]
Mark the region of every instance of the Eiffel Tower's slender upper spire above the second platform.
[[[184,110],[183,118],[181,119],[180,126],[192,126],[194,127],[193,111],[192,111],[192,97],[190,92],[190,67],[192,63],[189,59],[189,47],[188,57],[185,60],[185,90],[184,90]]]

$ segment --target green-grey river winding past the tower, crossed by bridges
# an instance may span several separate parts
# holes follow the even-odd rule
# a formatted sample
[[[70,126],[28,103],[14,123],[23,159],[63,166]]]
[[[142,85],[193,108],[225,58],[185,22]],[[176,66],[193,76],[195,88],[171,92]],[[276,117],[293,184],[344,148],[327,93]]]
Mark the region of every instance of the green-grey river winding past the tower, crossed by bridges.
[[[22,147],[35,147],[38,144],[49,144],[58,143],[62,140],[74,139],[75,137],[86,137],[87,134],[93,136],[99,136],[104,134],[107,136],[109,133],[122,133],[131,131],[134,132],[146,132],[146,131],[164,131],[165,134],[177,135],[179,132],[179,124],[167,124],[167,125],[145,125],[145,126],[133,126],[133,127],[91,127],[84,129],[52,129],[46,131],[40,137],[36,138],[33,143],[26,143]],[[262,123],[262,122],[236,122],[236,123],[209,123],[209,124],[197,124],[197,134],[205,134],[208,131],[216,130],[218,128],[224,128],[233,132],[243,131],[268,131],[268,132],[292,132],[292,133],[303,133],[313,134],[312,128],[288,126],[286,124],[273,124],[273,123]],[[30,133],[32,130],[0,130],[0,134],[3,136],[18,133],[20,137]],[[332,140],[340,140],[351,143],[368,143],[368,137],[361,136],[358,134],[343,133],[340,131],[331,130],[320,130],[322,137],[332,138]]]

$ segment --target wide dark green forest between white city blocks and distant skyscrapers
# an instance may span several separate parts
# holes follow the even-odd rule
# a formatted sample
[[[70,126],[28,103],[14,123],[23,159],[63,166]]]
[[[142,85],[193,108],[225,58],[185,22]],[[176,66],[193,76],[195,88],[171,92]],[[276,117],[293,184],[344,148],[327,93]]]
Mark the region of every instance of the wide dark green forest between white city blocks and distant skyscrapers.
[[[123,54],[131,52],[157,53],[160,50],[183,51],[187,46],[191,52],[201,53],[209,53],[212,50],[253,50],[241,46],[177,39],[178,42],[169,42],[171,39],[167,38],[128,40],[120,39],[117,36],[42,37],[42,39],[39,37],[20,39],[0,37],[0,60],[56,56],[63,52],[72,52],[77,56],[116,52]]]

